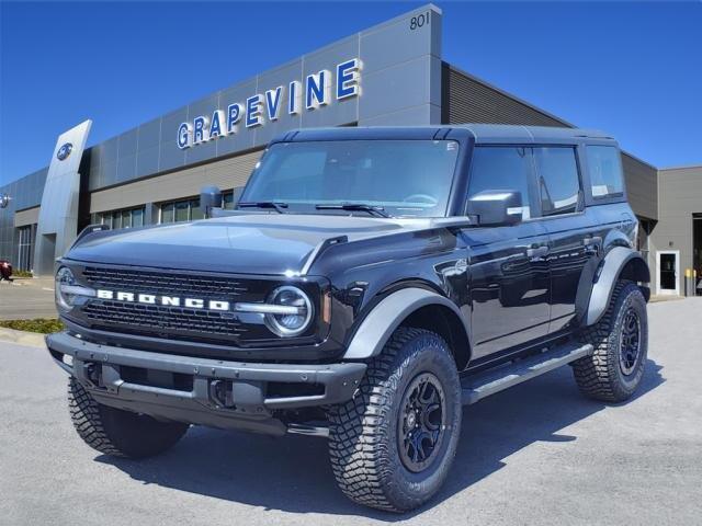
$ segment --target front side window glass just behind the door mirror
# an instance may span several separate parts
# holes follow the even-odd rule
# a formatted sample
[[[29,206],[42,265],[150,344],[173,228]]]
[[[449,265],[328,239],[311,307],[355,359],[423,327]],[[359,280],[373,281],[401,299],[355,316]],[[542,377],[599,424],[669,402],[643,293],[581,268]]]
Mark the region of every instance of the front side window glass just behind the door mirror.
[[[468,198],[485,190],[516,190],[522,194],[522,219],[531,217],[529,148],[478,146],[473,150]],[[469,206],[469,205],[468,205]],[[468,214],[473,211],[468,207]]]

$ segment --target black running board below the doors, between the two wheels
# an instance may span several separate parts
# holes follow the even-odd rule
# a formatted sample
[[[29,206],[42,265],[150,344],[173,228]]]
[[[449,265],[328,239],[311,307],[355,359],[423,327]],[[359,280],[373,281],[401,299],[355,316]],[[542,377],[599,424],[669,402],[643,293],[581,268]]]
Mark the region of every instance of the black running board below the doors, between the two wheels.
[[[468,376],[462,380],[463,404],[475,403],[485,397],[531,380],[590,354],[592,354],[592,345],[589,343],[585,345],[566,343],[540,354],[510,362],[496,369]]]

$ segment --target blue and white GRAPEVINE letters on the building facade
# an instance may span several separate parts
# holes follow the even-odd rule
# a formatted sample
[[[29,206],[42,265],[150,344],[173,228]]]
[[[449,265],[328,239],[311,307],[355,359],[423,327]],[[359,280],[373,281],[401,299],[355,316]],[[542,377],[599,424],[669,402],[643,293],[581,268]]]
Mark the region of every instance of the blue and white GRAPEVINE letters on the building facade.
[[[287,84],[271,87],[246,101],[231,101],[225,108],[200,115],[178,127],[177,141],[181,150],[245,129],[273,123],[281,115],[299,115],[319,110],[332,100],[342,101],[361,94],[361,60],[351,58],[338,64],[335,71],[322,69],[293,80]]]

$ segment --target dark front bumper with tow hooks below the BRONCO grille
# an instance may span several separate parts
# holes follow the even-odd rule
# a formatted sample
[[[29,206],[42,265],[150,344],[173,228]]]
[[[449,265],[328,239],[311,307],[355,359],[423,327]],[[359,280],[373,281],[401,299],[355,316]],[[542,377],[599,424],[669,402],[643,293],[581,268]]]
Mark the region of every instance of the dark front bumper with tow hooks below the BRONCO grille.
[[[213,427],[284,434],[279,410],[350,400],[362,363],[253,364],[46,338],[52,357],[101,403]],[[71,359],[67,359],[70,356]]]

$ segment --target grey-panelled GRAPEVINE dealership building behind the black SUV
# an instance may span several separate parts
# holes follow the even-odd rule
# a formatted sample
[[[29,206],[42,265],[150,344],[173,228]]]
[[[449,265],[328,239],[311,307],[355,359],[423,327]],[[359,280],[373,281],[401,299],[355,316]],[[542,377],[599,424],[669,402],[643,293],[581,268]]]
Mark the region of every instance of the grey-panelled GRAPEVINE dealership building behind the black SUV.
[[[0,187],[0,259],[50,274],[89,224],[202,217],[204,185],[219,186],[231,207],[265,144],[292,128],[574,126],[442,56],[442,13],[429,4],[103,142],[87,147],[91,122],[79,124],[59,136],[47,168]],[[654,294],[682,294],[684,270],[702,271],[702,167],[658,170],[626,152],[622,162]]]

